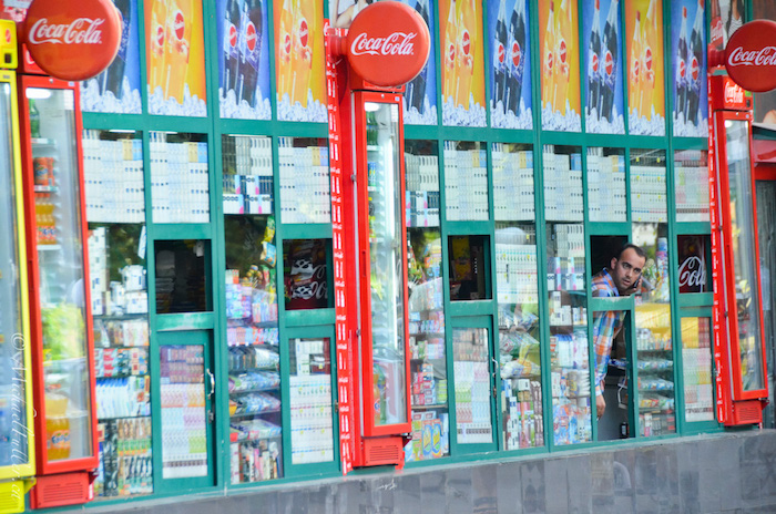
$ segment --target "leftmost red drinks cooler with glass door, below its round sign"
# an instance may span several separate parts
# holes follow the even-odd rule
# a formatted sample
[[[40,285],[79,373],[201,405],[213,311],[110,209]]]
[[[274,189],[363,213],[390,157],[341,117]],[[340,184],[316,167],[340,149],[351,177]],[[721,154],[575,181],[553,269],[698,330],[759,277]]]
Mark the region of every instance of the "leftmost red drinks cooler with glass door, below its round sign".
[[[84,503],[98,465],[94,364],[78,84],[20,79],[32,386],[33,508]]]

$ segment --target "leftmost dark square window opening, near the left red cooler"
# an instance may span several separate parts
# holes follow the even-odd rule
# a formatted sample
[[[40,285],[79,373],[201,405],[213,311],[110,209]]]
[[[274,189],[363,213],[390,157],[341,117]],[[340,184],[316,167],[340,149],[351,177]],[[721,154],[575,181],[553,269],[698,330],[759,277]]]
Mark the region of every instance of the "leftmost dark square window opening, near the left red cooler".
[[[156,313],[211,310],[210,241],[157,240]]]

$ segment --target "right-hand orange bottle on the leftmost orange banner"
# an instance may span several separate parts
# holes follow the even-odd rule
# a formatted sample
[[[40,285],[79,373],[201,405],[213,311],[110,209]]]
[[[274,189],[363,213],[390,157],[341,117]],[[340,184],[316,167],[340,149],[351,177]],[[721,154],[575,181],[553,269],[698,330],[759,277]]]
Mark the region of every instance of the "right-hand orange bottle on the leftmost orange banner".
[[[166,76],[164,97],[183,103],[192,41],[192,0],[170,0],[165,40]]]

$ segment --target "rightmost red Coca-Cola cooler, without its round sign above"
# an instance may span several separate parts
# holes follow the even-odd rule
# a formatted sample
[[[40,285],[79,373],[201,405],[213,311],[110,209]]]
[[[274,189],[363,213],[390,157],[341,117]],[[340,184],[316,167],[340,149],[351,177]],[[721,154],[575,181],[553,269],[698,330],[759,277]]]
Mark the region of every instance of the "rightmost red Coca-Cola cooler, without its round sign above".
[[[727,75],[709,82],[709,182],[717,417],[760,423],[768,398],[752,158],[752,97]]]

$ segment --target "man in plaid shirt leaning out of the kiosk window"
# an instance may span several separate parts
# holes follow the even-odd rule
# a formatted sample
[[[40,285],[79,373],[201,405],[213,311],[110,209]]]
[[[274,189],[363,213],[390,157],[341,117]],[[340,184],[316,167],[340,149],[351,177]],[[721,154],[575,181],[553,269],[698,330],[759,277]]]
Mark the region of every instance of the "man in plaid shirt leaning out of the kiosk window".
[[[593,277],[593,296],[616,298],[633,295],[641,284],[641,271],[646,264],[646,254],[636,245],[627,244],[612,257],[609,268]],[[603,399],[604,378],[609,366],[612,342],[620,333],[625,315],[623,310],[596,311],[593,316],[593,343],[595,350],[595,409],[599,418],[606,410]]]

